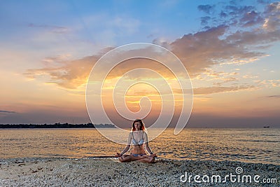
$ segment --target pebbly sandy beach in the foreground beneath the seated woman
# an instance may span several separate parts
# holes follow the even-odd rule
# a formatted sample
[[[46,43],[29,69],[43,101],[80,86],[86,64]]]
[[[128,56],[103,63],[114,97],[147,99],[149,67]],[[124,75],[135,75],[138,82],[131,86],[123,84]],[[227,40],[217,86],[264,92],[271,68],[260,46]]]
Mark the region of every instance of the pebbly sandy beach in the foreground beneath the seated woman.
[[[0,160],[0,168],[0,186],[280,185],[280,165],[232,161],[159,158],[153,164],[146,164],[122,163],[116,158],[13,158]],[[232,181],[230,176],[225,180],[225,176],[230,174]],[[200,178],[195,180],[195,175]],[[221,181],[216,181],[217,175],[221,176]],[[251,183],[246,181],[244,175],[251,175]],[[257,182],[254,179],[257,179]],[[270,183],[263,183],[263,179],[269,179]]]

